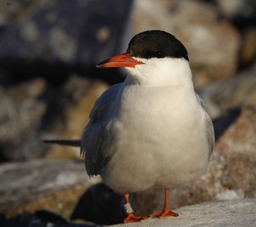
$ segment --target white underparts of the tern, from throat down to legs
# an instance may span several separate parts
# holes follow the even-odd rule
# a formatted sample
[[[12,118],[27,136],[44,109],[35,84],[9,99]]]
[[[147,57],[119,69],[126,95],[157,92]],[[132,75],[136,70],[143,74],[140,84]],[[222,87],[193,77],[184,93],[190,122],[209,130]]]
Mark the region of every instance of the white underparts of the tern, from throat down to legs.
[[[112,123],[115,152],[102,170],[104,183],[119,193],[175,187],[207,167],[205,112],[195,97],[190,69],[180,67],[181,78],[174,72],[168,79],[165,65],[158,82],[148,66],[139,65],[119,92]]]

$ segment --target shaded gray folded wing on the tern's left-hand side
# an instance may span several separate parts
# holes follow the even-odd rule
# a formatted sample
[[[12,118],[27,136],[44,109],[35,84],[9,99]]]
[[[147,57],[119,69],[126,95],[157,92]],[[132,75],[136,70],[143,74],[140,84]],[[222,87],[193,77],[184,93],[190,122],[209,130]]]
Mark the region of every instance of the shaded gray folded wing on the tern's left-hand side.
[[[121,84],[113,85],[98,98],[90,113],[90,122],[81,138],[80,154],[85,157],[86,171],[89,176],[98,175],[109,161],[111,150],[110,122],[115,98]]]

